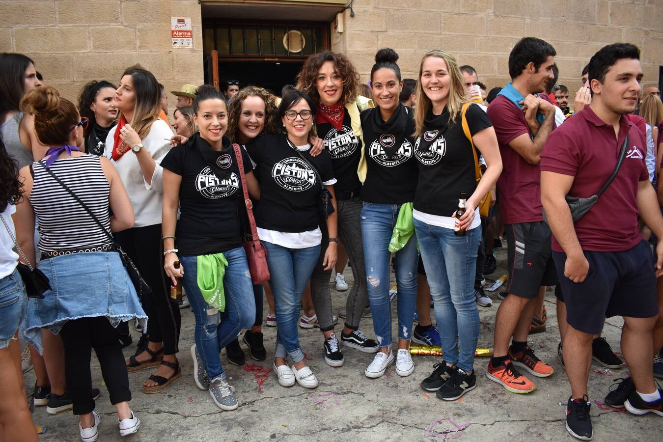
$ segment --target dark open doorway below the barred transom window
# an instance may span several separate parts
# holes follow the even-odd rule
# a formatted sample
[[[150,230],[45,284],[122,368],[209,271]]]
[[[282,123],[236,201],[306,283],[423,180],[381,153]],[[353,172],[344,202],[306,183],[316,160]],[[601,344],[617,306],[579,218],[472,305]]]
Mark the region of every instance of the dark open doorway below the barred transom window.
[[[225,89],[227,80],[239,81],[239,87],[265,87],[280,97],[281,88],[296,82],[302,62],[219,62],[219,87]],[[206,78],[207,82],[207,78]]]

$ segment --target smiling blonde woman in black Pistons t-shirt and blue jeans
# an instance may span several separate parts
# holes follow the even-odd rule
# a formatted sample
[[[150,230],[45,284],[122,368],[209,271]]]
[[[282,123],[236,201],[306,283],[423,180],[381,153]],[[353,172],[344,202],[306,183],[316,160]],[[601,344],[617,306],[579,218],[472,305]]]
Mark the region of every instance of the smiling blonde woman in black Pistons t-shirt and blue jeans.
[[[481,242],[479,201],[497,181],[502,160],[497,137],[485,112],[467,107],[465,119],[486,171],[475,180],[473,145],[463,131],[463,80],[454,58],[431,50],[422,59],[414,112],[414,155],[419,180],[414,197],[414,227],[433,298],[444,360],[422,382],[438,398],[456,400],[476,386],[474,353],[479,311],[474,297],[477,249]],[[465,193],[467,200],[461,199]],[[465,213],[457,219],[459,204]],[[464,236],[454,231],[465,231]],[[460,351],[459,351],[460,347]],[[444,381],[446,379],[446,382]]]

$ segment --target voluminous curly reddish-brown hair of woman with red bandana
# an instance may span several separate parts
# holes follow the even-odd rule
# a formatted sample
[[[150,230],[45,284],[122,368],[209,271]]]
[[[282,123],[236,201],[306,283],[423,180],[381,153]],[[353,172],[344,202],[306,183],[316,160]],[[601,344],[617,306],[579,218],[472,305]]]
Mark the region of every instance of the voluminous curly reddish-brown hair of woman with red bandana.
[[[341,95],[343,103],[346,105],[353,103],[359,94],[359,73],[349,58],[330,50],[318,52],[306,59],[302,70],[297,74],[297,89],[308,93],[316,103],[320,103],[316,78],[324,62],[333,62],[338,74],[343,78],[343,95]]]

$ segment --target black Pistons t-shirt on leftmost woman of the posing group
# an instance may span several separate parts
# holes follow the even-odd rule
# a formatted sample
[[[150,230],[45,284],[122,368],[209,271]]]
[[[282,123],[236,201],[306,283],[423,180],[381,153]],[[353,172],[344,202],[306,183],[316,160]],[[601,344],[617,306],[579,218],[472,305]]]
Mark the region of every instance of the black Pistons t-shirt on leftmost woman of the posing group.
[[[201,149],[217,158],[220,172],[208,166]],[[241,149],[244,173],[251,172],[251,159]],[[243,199],[239,166],[233,146],[224,138],[221,151],[212,150],[200,135],[170,149],[161,161],[164,169],[182,176],[180,219],[176,247],[183,255],[198,256],[241,247],[237,199]],[[219,174],[219,176],[217,176]]]

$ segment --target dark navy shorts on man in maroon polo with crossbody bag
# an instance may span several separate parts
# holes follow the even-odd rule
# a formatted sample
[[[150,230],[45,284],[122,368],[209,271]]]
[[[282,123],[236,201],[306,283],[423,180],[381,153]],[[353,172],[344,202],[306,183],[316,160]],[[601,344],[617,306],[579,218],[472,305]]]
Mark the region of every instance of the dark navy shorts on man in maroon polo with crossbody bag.
[[[583,282],[564,276],[566,254],[552,252],[562,275],[566,321],[584,333],[601,333],[605,318],[658,314],[654,260],[646,241],[623,252],[585,251],[589,272]]]

